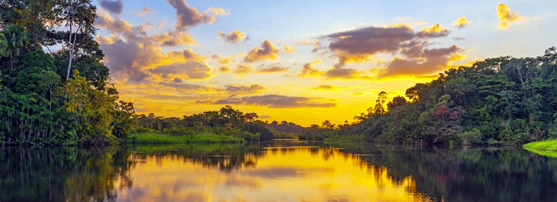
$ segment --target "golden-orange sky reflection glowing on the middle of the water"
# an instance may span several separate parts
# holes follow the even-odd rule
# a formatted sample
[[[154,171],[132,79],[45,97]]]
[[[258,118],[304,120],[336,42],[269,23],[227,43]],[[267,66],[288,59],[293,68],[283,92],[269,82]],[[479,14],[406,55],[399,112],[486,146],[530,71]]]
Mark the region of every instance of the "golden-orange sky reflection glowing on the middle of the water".
[[[132,155],[133,157],[133,155]],[[230,164],[233,156],[212,156]],[[178,155],[147,156],[131,169],[118,201],[430,201],[412,176],[328,147],[264,147],[230,172]],[[136,159],[132,159],[136,160]]]

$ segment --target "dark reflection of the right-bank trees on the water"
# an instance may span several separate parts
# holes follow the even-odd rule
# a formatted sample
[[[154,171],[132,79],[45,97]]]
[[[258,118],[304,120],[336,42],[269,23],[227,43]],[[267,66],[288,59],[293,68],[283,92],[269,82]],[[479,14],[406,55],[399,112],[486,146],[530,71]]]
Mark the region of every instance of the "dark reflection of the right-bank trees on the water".
[[[417,191],[445,201],[555,201],[557,159],[514,148],[415,150],[346,147],[362,164],[387,167],[395,181],[412,176]]]

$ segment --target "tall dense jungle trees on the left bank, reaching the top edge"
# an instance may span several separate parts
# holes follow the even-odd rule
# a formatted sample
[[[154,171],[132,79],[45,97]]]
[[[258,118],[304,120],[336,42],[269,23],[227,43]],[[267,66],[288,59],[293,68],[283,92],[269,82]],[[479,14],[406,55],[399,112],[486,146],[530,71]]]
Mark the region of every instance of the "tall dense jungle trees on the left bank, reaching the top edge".
[[[0,1],[0,142],[104,144],[131,131],[133,104],[109,83],[95,18],[88,0]]]

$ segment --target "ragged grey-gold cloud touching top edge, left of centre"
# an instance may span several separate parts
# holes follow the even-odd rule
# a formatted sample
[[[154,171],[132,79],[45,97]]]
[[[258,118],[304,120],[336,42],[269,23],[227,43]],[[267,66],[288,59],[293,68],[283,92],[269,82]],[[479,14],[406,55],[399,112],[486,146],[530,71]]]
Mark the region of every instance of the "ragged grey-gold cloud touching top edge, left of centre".
[[[176,10],[176,30],[187,30],[201,23],[213,23],[217,16],[225,15],[226,11],[220,8],[209,8],[199,13],[194,7],[187,5],[185,0],[167,0]]]

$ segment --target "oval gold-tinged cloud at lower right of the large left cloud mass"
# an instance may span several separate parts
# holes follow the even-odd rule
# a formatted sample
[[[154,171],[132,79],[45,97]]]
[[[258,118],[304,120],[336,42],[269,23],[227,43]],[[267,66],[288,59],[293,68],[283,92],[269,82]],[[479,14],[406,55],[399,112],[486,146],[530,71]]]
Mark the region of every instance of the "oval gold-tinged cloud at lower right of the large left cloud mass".
[[[149,72],[162,77],[173,75],[180,79],[209,79],[213,75],[211,66],[205,62],[172,63],[155,67]]]

